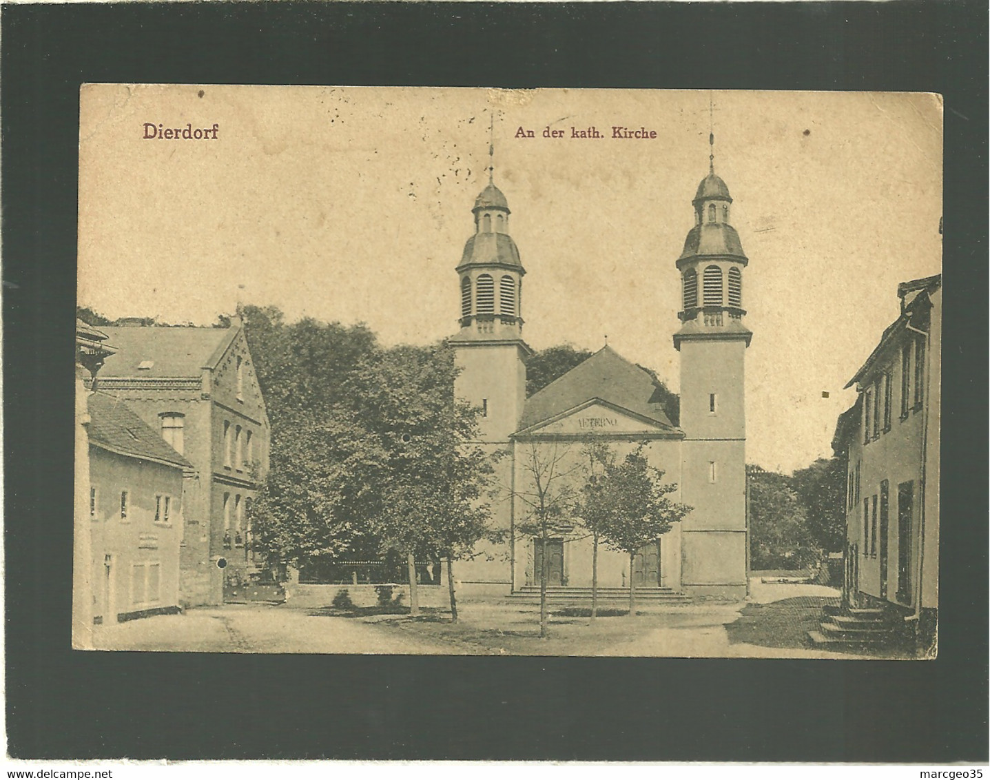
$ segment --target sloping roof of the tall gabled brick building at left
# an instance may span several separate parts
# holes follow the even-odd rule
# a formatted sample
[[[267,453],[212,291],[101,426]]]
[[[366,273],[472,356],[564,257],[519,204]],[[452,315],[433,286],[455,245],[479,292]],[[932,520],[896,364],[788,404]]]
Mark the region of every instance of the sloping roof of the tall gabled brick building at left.
[[[213,368],[240,328],[104,328],[117,353],[104,377],[199,376]],[[144,367],[141,367],[144,366]]]

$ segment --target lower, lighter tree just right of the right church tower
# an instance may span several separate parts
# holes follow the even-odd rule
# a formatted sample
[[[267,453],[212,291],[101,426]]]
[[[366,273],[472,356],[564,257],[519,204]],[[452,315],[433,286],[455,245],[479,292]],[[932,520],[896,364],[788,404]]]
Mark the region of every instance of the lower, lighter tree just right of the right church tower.
[[[818,557],[805,507],[784,474],[746,466],[749,555],[755,569],[797,569]]]

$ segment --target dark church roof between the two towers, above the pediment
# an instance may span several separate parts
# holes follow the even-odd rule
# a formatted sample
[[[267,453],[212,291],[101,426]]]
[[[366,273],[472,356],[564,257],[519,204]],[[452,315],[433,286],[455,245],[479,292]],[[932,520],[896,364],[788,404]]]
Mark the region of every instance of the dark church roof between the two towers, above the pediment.
[[[526,399],[519,430],[532,428],[577,406],[599,399],[677,431],[663,411],[656,381],[611,346],[603,346],[584,362]]]

